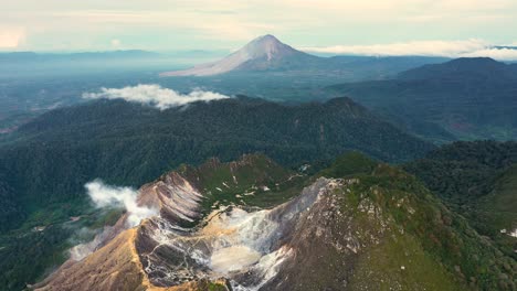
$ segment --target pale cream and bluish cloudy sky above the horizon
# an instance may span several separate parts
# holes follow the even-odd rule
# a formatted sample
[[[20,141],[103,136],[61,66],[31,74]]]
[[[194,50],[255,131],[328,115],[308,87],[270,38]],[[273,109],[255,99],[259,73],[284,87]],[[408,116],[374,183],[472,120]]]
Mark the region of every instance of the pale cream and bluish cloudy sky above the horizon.
[[[0,0],[1,51],[236,50],[274,34],[323,53],[517,45],[516,0]],[[505,52],[497,52],[503,53]]]

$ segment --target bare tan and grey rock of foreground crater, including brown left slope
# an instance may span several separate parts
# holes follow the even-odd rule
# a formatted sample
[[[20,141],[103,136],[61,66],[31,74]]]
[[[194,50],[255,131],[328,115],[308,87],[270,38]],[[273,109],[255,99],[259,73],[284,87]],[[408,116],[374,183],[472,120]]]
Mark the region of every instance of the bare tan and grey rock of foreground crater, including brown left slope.
[[[112,236],[119,233],[115,238],[80,261],[67,261],[36,290],[169,290],[219,278],[238,289],[258,289],[293,259],[302,217],[314,215],[312,207],[325,202],[321,196],[336,183],[320,179],[273,209],[223,206],[184,228],[182,223],[199,217],[202,195],[180,174],[167,174],[140,190],[139,203],[159,207],[158,216],[136,228],[112,229]]]

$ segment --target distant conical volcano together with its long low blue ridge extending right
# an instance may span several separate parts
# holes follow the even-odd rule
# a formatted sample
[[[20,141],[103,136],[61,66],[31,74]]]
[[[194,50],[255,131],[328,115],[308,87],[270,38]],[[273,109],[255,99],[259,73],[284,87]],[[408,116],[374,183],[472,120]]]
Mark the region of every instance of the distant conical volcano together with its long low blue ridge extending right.
[[[439,57],[320,57],[282,43],[273,35],[260,36],[221,61],[190,69],[162,73],[161,76],[213,76],[250,72],[291,72],[300,76],[341,75],[345,78],[384,78],[423,64],[443,62]]]

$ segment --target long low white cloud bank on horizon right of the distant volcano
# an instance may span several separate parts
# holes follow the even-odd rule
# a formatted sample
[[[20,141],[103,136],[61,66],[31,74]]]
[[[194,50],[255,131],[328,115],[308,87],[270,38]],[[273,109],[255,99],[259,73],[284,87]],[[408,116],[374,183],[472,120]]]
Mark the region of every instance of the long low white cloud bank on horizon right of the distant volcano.
[[[303,47],[306,52],[368,55],[368,56],[446,56],[474,57],[487,56],[499,61],[517,60],[517,50],[494,47],[482,40],[467,41],[421,41],[373,45],[335,45],[325,47]]]

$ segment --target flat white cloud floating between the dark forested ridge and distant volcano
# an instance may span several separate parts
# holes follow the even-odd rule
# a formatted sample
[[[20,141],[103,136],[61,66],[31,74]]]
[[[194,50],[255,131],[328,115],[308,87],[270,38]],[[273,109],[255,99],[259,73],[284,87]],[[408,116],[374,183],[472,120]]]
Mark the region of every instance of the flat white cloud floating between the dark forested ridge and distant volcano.
[[[124,88],[101,88],[99,93],[84,93],[86,99],[124,99],[130,103],[140,103],[155,106],[160,110],[183,106],[196,101],[211,101],[230,98],[229,96],[196,89],[190,94],[180,94],[159,85],[137,85]]]

